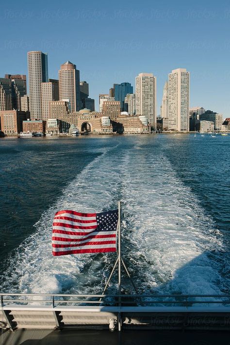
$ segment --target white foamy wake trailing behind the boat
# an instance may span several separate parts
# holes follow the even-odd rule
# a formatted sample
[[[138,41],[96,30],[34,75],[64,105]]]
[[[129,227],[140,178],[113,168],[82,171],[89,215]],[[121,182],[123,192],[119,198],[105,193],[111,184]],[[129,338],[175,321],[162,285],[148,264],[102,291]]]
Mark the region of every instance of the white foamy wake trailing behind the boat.
[[[138,148],[121,148],[118,156],[105,149],[69,183],[19,246],[4,291],[100,293],[115,253],[53,257],[52,220],[61,209],[101,212],[121,199],[123,255],[141,292],[220,293],[221,278],[207,254],[222,246],[212,219],[165,157],[140,141]]]

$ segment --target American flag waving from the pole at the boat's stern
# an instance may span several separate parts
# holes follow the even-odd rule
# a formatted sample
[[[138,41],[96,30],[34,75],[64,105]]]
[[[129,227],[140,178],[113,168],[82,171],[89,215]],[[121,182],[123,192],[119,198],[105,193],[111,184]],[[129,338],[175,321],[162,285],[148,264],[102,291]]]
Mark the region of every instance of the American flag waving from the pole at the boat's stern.
[[[118,210],[102,213],[59,211],[53,220],[54,256],[116,251]]]

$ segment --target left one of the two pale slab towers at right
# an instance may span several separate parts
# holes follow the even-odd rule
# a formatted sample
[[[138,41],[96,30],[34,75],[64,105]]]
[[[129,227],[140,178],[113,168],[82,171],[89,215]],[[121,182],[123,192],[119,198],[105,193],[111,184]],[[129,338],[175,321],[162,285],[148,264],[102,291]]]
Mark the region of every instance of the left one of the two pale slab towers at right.
[[[152,73],[140,73],[136,77],[136,115],[147,117],[149,124],[156,129],[157,124],[157,85]]]

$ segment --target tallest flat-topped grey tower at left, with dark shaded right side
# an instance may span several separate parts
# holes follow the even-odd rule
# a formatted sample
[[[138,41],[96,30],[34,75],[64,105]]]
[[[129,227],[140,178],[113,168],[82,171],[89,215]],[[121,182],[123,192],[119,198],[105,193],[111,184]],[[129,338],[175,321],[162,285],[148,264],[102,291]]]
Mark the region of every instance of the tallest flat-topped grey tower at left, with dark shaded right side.
[[[29,51],[27,56],[31,119],[41,120],[41,83],[48,82],[48,56],[42,51]]]

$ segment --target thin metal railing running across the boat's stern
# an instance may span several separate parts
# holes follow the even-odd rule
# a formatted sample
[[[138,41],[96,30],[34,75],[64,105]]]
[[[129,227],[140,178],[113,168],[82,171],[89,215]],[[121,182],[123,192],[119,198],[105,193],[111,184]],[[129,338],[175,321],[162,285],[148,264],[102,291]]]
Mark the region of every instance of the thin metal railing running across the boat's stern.
[[[120,298],[119,298],[120,297]],[[25,306],[142,306],[142,307],[230,307],[230,295],[72,295],[72,294],[0,294],[1,307]],[[120,301],[120,304],[119,304]]]

